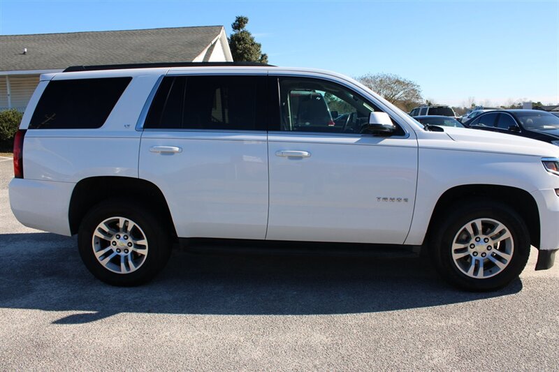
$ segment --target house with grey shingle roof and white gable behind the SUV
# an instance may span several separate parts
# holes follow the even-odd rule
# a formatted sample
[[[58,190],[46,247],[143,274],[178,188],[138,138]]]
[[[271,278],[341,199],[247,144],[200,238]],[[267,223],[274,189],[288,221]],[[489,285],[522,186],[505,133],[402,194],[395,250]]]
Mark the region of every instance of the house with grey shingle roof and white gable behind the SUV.
[[[0,110],[24,111],[39,75],[68,66],[233,61],[223,26],[0,36]]]

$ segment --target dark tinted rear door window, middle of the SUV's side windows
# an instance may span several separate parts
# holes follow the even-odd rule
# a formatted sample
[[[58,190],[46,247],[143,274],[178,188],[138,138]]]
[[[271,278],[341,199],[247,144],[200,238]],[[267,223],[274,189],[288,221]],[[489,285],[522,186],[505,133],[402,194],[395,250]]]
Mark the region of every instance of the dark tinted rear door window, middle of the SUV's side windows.
[[[265,130],[266,80],[254,76],[164,77],[145,128]]]

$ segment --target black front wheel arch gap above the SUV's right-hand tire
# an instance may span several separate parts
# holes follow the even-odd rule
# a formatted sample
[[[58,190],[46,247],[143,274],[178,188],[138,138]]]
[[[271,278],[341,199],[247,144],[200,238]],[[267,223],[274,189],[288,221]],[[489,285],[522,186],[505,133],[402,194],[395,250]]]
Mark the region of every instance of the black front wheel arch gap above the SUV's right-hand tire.
[[[523,221],[528,226],[528,231],[530,232],[530,244],[539,248],[539,211],[537,202],[532,195],[521,188],[490,184],[460,185],[454,186],[453,188],[449,188],[445,191],[439,200],[437,200],[437,204],[435,204],[435,209],[431,215],[429,227],[423,244],[426,244],[430,235],[433,234],[437,225],[441,223],[442,219],[444,219],[444,216],[446,216],[447,212],[454,203],[473,198],[485,198],[495,202],[502,202],[514,209],[514,211],[523,218]]]

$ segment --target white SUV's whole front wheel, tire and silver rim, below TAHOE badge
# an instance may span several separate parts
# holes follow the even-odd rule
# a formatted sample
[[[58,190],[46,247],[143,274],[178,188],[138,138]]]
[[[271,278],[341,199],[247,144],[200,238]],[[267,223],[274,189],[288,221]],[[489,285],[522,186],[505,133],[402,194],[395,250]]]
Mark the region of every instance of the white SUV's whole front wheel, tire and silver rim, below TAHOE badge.
[[[465,290],[496,290],[521,274],[530,234],[505,204],[472,200],[451,207],[430,241],[437,271]]]

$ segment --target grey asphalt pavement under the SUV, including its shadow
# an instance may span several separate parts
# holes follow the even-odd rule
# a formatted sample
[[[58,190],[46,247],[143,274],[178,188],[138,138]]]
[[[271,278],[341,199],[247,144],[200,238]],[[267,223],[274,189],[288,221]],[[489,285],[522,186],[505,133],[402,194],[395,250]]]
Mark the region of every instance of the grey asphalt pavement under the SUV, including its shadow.
[[[425,260],[174,251],[139,288],[25,228],[0,158],[0,370],[558,371],[559,265],[491,293]]]

